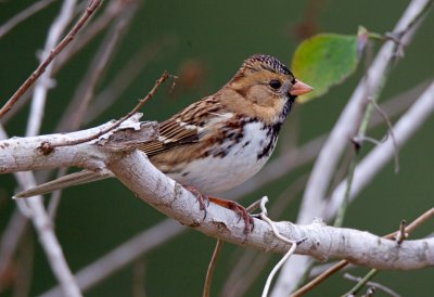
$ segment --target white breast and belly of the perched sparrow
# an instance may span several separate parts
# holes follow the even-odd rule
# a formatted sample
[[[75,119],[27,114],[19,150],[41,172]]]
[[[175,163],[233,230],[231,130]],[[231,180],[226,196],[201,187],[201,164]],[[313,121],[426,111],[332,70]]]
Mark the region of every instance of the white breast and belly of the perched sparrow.
[[[239,142],[226,141],[215,148],[225,154],[209,154],[205,158],[184,164],[179,172],[169,173],[169,177],[181,184],[194,185],[208,195],[227,191],[263,168],[275,148],[276,140],[277,135],[272,137],[269,127],[258,121],[247,122]],[[270,145],[270,152],[264,156],[267,145]]]

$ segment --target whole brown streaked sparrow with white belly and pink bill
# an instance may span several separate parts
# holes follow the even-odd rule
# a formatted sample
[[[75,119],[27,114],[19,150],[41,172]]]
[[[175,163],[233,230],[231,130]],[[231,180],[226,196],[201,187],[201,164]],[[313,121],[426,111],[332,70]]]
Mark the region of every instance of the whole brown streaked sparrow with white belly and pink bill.
[[[209,202],[218,204],[237,212],[248,233],[253,220],[246,209],[214,195],[243,183],[264,167],[296,98],[312,90],[278,59],[254,54],[215,94],[158,124],[158,138],[139,145],[138,150],[196,196],[204,217]],[[82,170],[15,197],[44,194],[107,177],[113,173]]]

